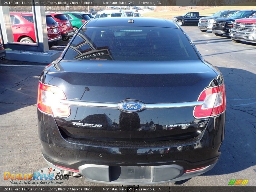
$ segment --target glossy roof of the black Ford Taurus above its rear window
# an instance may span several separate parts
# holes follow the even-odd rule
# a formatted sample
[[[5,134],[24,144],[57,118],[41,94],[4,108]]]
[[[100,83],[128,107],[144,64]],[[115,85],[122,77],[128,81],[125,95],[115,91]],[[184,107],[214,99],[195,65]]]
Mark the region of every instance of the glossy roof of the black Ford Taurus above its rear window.
[[[133,19],[133,23],[128,21]],[[141,27],[168,27],[178,29],[179,26],[171,20],[150,17],[103,17],[89,20],[85,27],[110,26],[141,26]]]

